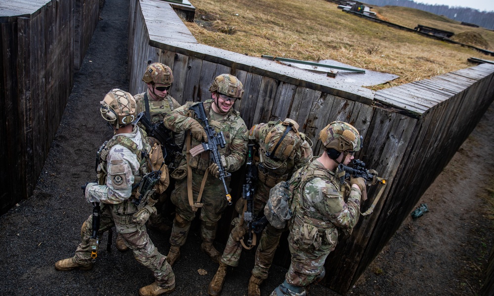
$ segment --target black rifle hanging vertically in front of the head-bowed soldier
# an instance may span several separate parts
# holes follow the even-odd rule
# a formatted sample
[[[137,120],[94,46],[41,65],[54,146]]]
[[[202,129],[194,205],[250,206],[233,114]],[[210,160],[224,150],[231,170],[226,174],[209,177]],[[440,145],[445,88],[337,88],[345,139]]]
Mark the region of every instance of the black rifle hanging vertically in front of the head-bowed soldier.
[[[254,144],[247,145],[247,172],[246,181],[242,185],[242,198],[245,199],[246,206],[244,206],[244,216],[241,217],[241,225],[244,221],[247,222],[247,245],[244,243],[244,238],[241,239],[241,244],[247,250],[252,249],[255,246],[255,233],[252,229],[252,223],[256,219],[254,211],[254,192],[255,192],[255,181],[257,180],[257,169],[254,165]]]

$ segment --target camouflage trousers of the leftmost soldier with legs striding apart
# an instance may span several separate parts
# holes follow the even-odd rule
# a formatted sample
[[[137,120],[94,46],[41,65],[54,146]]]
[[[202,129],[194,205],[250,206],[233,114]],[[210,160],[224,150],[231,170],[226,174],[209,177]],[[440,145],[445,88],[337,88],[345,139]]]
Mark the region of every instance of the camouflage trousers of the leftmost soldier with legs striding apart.
[[[125,244],[132,250],[135,259],[153,272],[156,282],[160,287],[166,288],[174,286],[175,274],[173,273],[170,264],[166,262],[166,256],[158,252],[158,249],[156,249],[155,245],[149,238],[145,226],[136,227],[135,223],[131,221],[131,216],[132,215],[129,214],[116,214],[111,211],[111,206],[104,207],[100,214],[98,235],[101,237],[105,231],[115,225],[116,221],[118,224],[116,225],[118,226],[116,228],[119,232],[121,232],[123,228],[131,230],[142,228],[140,230],[134,230],[128,233],[121,233],[125,240]],[[125,225],[127,227],[125,227]],[[127,231],[124,230],[123,232]],[[91,250],[89,246],[91,234],[92,215],[90,215],[89,218],[87,218],[87,220],[82,224],[81,243],[77,247],[76,254],[74,256],[77,263],[87,264],[91,261]]]

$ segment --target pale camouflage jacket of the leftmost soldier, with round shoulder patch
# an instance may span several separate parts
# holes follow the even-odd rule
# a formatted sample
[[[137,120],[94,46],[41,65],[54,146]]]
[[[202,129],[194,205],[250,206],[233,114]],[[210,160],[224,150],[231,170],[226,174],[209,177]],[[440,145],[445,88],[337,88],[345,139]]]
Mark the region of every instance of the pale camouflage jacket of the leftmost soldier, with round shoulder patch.
[[[141,134],[138,127],[134,126],[131,133],[121,133],[113,136],[112,139],[125,136],[137,145],[138,150],[147,150],[149,144],[145,140],[145,135]],[[107,145],[106,143],[104,144]],[[100,160],[100,165],[103,162]],[[144,171],[142,171],[144,170]],[[132,185],[147,172],[145,165],[141,168],[138,156],[127,147],[116,144],[106,156],[106,182],[100,185],[91,186],[87,193],[103,204],[114,205],[119,213],[133,213],[137,211],[134,204],[130,202],[132,196]],[[102,182],[103,183],[103,182]]]

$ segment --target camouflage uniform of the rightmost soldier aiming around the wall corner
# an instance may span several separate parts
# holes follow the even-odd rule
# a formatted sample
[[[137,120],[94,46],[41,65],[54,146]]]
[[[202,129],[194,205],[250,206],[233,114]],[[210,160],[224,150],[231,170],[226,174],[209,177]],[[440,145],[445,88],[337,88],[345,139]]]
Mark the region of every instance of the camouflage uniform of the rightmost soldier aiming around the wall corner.
[[[326,171],[328,177],[306,175],[308,181],[293,194],[294,214],[288,236],[291,264],[286,282],[295,287],[307,287],[314,282],[323,270],[326,257],[336,247],[338,231],[355,227],[360,214],[358,189],[351,189],[345,203],[334,171],[325,169],[317,159],[303,173],[310,174],[311,170]]]

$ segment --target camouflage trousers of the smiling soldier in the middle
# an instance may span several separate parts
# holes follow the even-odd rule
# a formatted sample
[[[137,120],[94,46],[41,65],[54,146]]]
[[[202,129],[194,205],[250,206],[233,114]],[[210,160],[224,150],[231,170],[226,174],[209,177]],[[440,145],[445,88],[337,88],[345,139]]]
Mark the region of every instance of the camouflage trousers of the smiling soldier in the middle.
[[[192,196],[194,202],[197,201],[204,172],[193,170],[192,172]],[[230,180],[227,180],[229,186]],[[175,205],[175,219],[170,235],[170,244],[172,246],[183,246],[187,240],[190,224],[196,216],[189,205],[189,196],[187,189],[187,178],[177,181],[175,189],[171,193],[171,202]],[[225,198],[225,189],[220,179],[207,176],[201,198],[203,207],[201,208],[201,238],[205,242],[212,243],[216,237],[216,228],[221,214],[225,211],[228,202]]]

